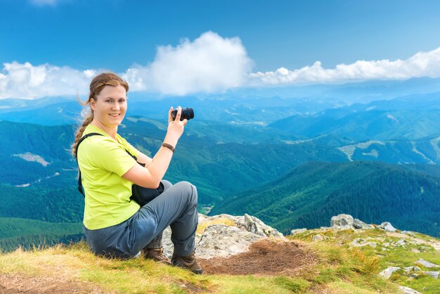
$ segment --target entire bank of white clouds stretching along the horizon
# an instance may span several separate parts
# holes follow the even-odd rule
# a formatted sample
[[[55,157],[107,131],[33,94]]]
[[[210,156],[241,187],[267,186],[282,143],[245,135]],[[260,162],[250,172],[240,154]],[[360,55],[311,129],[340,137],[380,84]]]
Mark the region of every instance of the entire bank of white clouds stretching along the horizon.
[[[320,61],[297,70],[278,68],[252,72],[252,60],[238,37],[224,38],[205,32],[197,39],[183,39],[177,46],[160,46],[148,65],[133,65],[119,72],[130,91],[156,91],[186,95],[215,93],[236,87],[282,84],[358,82],[369,79],[440,77],[440,47],[418,52],[406,60],[358,60],[323,68]],[[0,70],[0,98],[38,98],[87,94],[91,79],[107,70],[76,70],[48,63],[4,63]]]

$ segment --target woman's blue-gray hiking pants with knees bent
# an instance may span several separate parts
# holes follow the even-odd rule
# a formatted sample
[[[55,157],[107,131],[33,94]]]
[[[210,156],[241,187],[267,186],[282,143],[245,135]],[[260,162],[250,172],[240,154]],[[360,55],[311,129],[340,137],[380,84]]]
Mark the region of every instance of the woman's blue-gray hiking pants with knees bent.
[[[103,229],[83,225],[91,251],[106,257],[129,258],[143,248],[159,248],[162,232],[171,227],[174,255],[193,252],[198,225],[197,188],[188,181],[172,185],[162,180],[164,192],[126,221]]]

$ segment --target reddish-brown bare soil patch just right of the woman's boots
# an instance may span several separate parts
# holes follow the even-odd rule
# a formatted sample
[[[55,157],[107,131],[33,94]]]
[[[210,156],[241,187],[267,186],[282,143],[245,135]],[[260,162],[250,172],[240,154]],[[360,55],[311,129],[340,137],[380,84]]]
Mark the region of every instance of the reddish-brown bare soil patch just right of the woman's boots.
[[[250,250],[227,258],[200,260],[204,274],[295,274],[313,267],[318,257],[305,245],[295,241],[261,240]]]

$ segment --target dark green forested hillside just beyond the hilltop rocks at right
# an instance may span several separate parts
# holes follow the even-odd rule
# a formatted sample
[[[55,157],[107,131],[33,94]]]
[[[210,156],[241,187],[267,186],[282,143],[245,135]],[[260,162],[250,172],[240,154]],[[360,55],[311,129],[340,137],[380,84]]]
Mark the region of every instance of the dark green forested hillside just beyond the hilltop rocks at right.
[[[250,191],[216,205],[210,215],[250,213],[284,233],[329,226],[332,215],[365,222],[389,221],[440,236],[439,167],[432,175],[419,167],[382,162],[309,162]]]

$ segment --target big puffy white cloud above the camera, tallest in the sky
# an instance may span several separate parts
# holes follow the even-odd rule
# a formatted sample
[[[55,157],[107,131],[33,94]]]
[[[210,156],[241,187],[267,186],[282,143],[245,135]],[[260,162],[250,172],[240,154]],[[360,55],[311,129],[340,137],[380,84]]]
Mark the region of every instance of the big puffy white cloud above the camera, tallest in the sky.
[[[240,87],[251,70],[252,60],[238,37],[205,32],[176,47],[160,46],[153,63],[135,65],[124,78],[136,90],[184,95]]]

